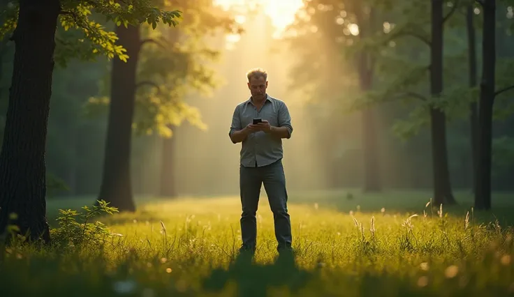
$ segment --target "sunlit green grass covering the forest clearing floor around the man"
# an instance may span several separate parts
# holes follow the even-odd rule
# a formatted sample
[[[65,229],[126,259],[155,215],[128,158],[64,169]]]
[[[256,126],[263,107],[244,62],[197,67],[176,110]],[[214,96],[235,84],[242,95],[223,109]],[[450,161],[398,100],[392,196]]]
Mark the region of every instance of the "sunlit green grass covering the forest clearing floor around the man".
[[[103,244],[8,248],[1,296],[514,296],[508,195],[466,220],[466,193],[439,216],[427,193],[353,192],[290,195],[294,259],[277,259],[265,197],[254,259],[237,257],[238,197],[141,199],[101,218],[122,234]],[[91,201],[49,201],[49,217]]]

